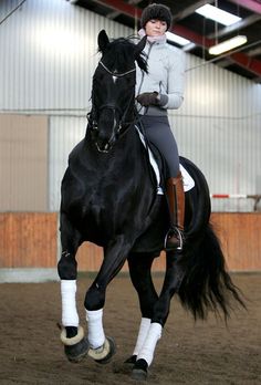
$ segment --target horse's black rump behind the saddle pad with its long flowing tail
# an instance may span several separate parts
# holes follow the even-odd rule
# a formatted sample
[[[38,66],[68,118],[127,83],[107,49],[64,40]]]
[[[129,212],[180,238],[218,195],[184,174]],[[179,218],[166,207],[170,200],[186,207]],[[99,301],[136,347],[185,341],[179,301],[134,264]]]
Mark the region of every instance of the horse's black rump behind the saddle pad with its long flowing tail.
[[[181,304],[195,319],[206,319],[208,311],[223,313],[227,320],[234,303],[246,308],[239,289],[226,270],[223,252],[210,218],[210,198],[202,173],[188,159],[181,163],[195,179],[196,186],[187,194],[186,248],[179,262],[185,271],[179,288]]]

